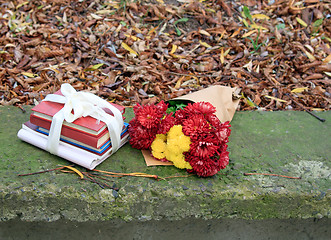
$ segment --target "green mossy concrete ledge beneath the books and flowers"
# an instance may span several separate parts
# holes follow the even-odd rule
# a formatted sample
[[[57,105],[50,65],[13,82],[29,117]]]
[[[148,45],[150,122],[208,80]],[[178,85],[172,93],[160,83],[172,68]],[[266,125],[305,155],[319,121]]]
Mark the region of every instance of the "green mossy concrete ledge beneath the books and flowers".
[[[232,121],[230,164],[210,178],[114,178],[120,190],[101,189],[76,175],[19,173],[55,168],[67,161],[17,137],[30,108],[0,107],[0,218],[25,221],[125,221],[331,217],[331,114],[321,123],[305,112],[237,112]],[[127,119],[132,111],[127,110]],[[79,168],[79,167],[78,167]],[[129,144],[97,167],[186,175],[171,166],[146,167]],[[80,169],[80,168],[79,168]],[[83,170],[83,169],[82,169]],[[298,176],[244,176],[247,172]]]

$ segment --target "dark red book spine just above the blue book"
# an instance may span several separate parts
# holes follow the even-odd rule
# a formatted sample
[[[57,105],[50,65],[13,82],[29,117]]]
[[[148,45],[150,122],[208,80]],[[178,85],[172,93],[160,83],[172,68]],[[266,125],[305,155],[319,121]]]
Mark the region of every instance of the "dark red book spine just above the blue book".
[[[45,128],[47,130],[50,129],[51,127],[51,122],[46,120],[46,119],[42,119],[39,117],[36,117],[35,115],[31,114],[30,115],[30,122],[32,124],[35,124],[39,127]],[[107,131],[104,132],[104,134],[106,134]],[[82,142],[84,144],[87,144],[91,147],[94,148],[98,148],[98,140],[101,136],[103,136],[103,134],[100,137],[93,137],[89,134],[86,134],[82,131],[78,131],[76,129],[72,129],[70,127],[67,127],[66,125],[62,125],[62,130],[61,130],[61,135],[68,137],[68,138],[72,138],[76,141]]]

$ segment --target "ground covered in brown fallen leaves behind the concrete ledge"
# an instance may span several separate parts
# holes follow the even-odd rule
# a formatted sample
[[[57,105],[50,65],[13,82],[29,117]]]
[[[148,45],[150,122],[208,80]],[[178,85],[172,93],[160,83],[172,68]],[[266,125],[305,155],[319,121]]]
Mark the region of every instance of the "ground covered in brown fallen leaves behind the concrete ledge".
[[[64,82],[126,106],[224,85],[238,110],[330,110],[330,45],[330,0],[0,0],[0,103]]]

